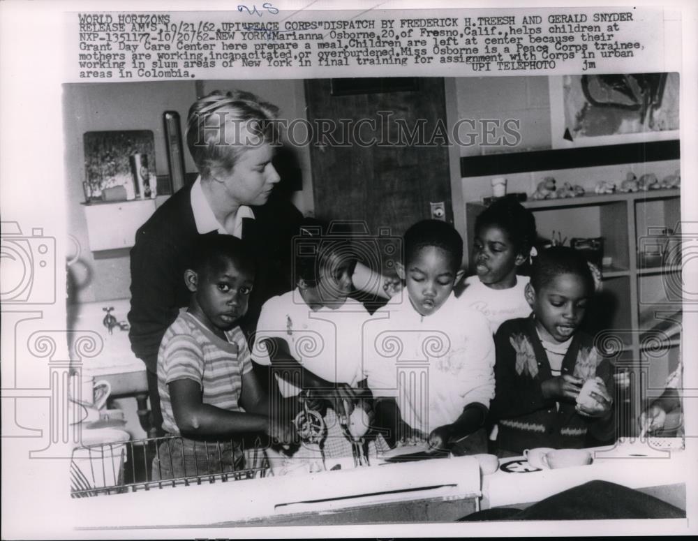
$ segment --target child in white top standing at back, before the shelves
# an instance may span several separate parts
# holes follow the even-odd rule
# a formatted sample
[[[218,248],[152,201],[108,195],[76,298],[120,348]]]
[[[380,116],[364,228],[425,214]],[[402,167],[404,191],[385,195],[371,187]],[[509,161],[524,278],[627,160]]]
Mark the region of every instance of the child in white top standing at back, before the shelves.
[[[468,276],[459,301],[482,313],[492,334],[507,319],[530,314],[524,289],[528,276],[519,269],[535,253],[535,218],[517,201],[493,202],[475,218],[473,262],[475,276]]]

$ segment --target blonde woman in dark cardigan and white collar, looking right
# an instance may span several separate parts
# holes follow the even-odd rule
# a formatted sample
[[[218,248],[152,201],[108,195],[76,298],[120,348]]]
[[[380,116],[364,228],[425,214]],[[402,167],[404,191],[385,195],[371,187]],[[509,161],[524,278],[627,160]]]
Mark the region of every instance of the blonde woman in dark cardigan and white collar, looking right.
[[[240,321],[246,334],[253,332],[265,300],[291,287],[290,242],[302,215],[290,202],[269,200],[280,180],[272,163],[278,112],[244,91],[216,91],[196,101],[188,114],[186,142],[199,177],[172,195],[136,233],[129,338],[147,368],[158,433],[158,348],[179,309],[188,304],[182,276],[200,235],[244,239],[257,260],[248,314]]]

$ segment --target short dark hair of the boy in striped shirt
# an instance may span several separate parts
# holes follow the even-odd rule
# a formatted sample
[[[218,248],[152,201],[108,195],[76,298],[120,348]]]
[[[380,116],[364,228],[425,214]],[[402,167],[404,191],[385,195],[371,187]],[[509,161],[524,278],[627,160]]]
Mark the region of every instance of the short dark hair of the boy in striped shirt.
[[[255,272],[254,257],[246,242],[232,235],[200,235],[191,266],[196,274],[207,277],[229,261],[239,270]]]

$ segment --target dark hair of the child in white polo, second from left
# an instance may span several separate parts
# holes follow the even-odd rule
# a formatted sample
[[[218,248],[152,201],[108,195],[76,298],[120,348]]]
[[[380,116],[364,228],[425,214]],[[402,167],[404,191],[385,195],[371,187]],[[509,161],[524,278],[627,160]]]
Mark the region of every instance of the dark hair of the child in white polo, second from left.
[[[293,243],[295,281],[303,279],[306,286],[317,286],[318,272],[333,255],[338,255],[341,261],[357,261],[347,235],[329,233],[329,225],[325,221],[303,218]]]

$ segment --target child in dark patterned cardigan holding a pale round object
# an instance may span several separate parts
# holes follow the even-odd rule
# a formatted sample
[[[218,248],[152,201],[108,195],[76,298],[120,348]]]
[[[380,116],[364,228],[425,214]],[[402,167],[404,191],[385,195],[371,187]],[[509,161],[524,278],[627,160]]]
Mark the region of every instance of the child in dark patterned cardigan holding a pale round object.
[[[594,281],[584,256],[554,246],[533,260],[528,318],[505,321],[495,336],[498,452],[585,447],[615,436],[611,364],[580,331]],[[591,436],[591,438],[590,438]]]

